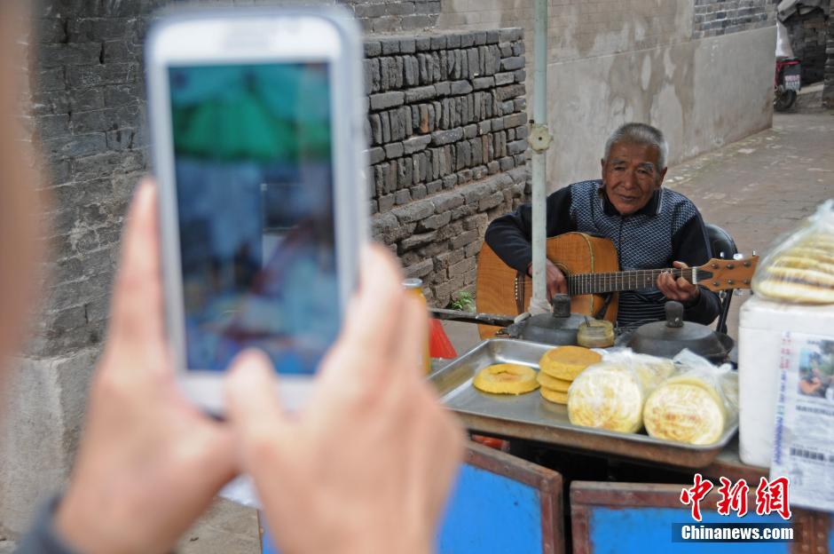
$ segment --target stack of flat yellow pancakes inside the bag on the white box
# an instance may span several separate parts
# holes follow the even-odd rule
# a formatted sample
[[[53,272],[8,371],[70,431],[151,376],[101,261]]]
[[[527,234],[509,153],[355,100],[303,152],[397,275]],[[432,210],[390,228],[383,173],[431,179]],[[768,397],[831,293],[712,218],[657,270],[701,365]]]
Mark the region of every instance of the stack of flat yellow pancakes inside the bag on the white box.
[[[834,235],[816,233],[759,265],[753,290],[781,302],[834,304]]]

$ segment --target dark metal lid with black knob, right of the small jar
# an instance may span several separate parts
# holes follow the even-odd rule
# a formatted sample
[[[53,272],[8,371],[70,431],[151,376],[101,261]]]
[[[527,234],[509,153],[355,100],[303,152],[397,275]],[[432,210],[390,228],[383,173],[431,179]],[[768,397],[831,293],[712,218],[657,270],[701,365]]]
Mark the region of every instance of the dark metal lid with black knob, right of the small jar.
[[[683,321],[683,305],[670,301],[665,305],[666,321],[641,325],[634,331],[628,346],[634,352],[673,358],[684,348],[721,363],[733,349],[734,341],[727,335],[692,321]]]

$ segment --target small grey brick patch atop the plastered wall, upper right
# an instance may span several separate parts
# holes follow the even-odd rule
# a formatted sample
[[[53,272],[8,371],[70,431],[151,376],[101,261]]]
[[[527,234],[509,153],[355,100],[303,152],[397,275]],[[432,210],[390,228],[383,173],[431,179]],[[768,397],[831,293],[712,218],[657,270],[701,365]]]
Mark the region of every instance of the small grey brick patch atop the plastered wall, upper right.
[[[774,0],[695,0],[692,37],[769,27],[775,16]]]

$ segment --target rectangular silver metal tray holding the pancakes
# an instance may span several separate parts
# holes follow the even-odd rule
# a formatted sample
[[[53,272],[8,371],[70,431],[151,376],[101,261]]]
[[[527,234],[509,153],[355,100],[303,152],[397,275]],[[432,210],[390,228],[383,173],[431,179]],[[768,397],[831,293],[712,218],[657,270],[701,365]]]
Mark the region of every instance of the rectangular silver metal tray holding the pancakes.
[[[654,439],[642,433],[620,433],[570,423],[568,408],[531,392],[518,396],[489,394],[472,386],[477,372],[494,363],[517,363],[538,370],[549,344],[492,338],[429,375],[440,400],[455,411],[471,431],[502,437],[538,440],[563,447],[623,456],[681,467],[703,468],[712,463],[736,434],[738,422],[728,425],[718,442],[693,446]]]

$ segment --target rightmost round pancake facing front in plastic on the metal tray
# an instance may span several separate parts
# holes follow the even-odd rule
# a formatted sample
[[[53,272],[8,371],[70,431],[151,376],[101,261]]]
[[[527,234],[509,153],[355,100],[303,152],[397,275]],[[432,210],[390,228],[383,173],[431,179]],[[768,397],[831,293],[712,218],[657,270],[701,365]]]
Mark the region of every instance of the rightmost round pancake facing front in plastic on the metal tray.
[[[727,410],[712,384],[696,376],[678,376],[649,395],[643,423],[657,439],[708,445],[724,432]]]

